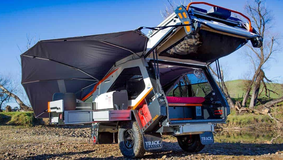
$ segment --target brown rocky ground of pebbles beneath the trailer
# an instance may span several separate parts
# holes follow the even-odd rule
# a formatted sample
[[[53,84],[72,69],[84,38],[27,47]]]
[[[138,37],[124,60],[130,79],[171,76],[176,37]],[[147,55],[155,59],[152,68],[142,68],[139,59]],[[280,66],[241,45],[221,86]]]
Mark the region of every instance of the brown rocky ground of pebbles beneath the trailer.
[[[0,159],[119,159],[118,144],[89,144],[88,126],[0,126]],[[143,160],[283,160],[283,144],[215,143],[200,153],[186,153],[176,139],[163,137],[163,148],[147,152]]]

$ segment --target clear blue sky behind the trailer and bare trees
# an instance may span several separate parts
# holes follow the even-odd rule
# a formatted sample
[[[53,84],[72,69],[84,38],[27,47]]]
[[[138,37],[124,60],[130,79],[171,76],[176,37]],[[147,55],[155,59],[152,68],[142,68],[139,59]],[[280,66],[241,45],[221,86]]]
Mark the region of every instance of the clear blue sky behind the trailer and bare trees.
[[[19,59],[21,52],[17,45],[26,50],[27,33],[31,37],[36,34],[40,39],[53,39],[132,30],[140,26],[153,27],[163,20],[160,14],[160,10],[165,8],[163,1],[1,1],[0,73],[20,73],[21,67],[16,57]],[[207,2],[242,12],[246,1]],[[270,0],[266,5],[275,15],[273,29],[282,34],[283,1]],[[229,65],[230,80],[241,78],[250,69],[241,52],[242,49],[220,59],[220,64]],[[269,78],[281,76],[277,79],[282,80],[282,52],[273,55],[273,58],[268,63],[266,75]]]

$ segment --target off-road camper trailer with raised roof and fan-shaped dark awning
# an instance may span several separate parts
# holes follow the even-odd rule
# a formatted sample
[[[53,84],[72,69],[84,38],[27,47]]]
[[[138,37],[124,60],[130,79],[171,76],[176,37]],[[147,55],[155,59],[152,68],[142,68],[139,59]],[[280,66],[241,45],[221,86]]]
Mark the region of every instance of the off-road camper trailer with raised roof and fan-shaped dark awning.
[[[248,41],[262,45],[232,10],[176,8],[148,36],[134,31],[51,39],[21,55],[22,84],[36,117],[50,123],[92,124],[94,143],[119,143],[141,157],[173,135],[198,152],[214,142],[214,125],[230,107],[208,65]],[[148,28],[148,27],[147,27]],[[113,133],[114,137],[113,138]]]

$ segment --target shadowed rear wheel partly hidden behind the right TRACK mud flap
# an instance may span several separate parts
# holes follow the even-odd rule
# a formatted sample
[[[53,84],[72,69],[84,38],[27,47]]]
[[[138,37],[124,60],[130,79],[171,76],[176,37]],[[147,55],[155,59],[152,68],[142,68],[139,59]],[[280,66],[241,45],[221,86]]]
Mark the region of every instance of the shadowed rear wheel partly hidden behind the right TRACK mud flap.
[[[179,135],[177,140],[179,146],[186,152],[196,153],[201,151],[205,146],[200,142],[199,134]]]

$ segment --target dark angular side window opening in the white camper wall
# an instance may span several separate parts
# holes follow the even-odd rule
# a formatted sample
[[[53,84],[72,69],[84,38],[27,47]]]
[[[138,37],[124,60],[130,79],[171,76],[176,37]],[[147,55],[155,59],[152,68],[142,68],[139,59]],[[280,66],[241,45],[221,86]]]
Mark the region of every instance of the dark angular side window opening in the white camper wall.
[[[128,99],[133,100],[145,89],[144,79],[139,67],[124,69],[107,92],[126,90]]]

